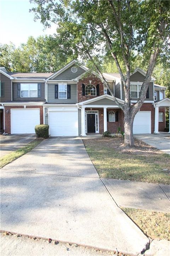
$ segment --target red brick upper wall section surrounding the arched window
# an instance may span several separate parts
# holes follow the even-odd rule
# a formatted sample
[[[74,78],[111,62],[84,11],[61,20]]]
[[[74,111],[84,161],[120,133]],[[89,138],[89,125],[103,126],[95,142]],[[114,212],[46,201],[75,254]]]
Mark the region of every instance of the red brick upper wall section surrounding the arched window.
[[[85,101],[85,100],[90,100],[92,98],[96,98],[96,96],[83,96],[82,95],[82,84],[85,86],[89,84],[89,80],[91,80],[91,84],[97,85],[99,84],[99,96],[104,94],[104,85],[101,82],[99,78],[97,78],[95,75],[90,74],[88,77],[85,77],[83,79],[80,79],[77,83],[77,97],[78,97],[78,102]]]

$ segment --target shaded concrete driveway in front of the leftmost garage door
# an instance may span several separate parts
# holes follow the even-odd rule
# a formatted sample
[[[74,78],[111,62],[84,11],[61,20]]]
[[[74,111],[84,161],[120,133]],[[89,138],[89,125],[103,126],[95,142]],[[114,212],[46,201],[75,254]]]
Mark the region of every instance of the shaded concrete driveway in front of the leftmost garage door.
[[[0,156],[4,156],[12,151],[22,148],[32,142],[35,138],[35,134],[12,134],[0,136]]]

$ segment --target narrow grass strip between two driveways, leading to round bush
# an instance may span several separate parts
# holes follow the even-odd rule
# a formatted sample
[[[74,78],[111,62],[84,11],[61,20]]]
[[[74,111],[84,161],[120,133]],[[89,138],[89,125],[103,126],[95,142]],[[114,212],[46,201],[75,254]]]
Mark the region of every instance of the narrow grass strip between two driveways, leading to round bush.
[[[16,151],[13,151],[10,154],[7,154],[5,156],[2,156],[2,158],[0,159],[0,168],[4,167],[5,165],[9,164],[10,162],[12,162],[13,160],[19,158],[20,156],[28,153],[29,151],[31,151],[33,148],[35,148],[38,144],[40,144],[42,142],[42,138],[36,138],[35,140],[33,140],[32,142],[30,142],[29,144],[27,144],[26,146],[22,147],[21,149],[18,149]]]

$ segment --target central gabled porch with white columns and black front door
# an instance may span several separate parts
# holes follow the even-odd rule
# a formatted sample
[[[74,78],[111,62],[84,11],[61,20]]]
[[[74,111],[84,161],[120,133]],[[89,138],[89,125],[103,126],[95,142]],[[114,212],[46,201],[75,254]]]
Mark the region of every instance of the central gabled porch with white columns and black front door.
[[[123,100],[118,99],[120,103]],[[81,136],[102,134],[107,130],[117,132],[123,124],[123,113],[112,96],[102,95],[78,103],[81,109]]]

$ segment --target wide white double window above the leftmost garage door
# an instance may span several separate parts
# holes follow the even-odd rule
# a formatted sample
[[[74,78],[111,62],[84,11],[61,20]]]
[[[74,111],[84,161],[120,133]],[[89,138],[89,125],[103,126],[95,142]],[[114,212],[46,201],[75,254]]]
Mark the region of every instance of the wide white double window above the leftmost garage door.
[[[21,97],[38,97],[38,84],[21,84]]]

